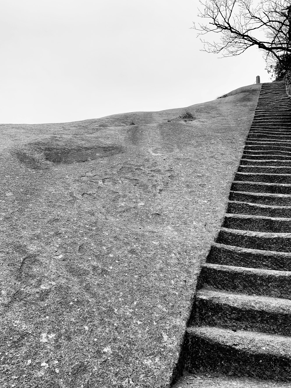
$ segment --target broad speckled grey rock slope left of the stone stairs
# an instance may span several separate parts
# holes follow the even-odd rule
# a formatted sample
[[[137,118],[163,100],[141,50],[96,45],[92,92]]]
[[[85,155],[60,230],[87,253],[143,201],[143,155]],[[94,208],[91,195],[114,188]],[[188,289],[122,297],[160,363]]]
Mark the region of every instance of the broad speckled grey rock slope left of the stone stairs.
[[[260,86],[193,121],[1,125],[1,386],[170,383]]]

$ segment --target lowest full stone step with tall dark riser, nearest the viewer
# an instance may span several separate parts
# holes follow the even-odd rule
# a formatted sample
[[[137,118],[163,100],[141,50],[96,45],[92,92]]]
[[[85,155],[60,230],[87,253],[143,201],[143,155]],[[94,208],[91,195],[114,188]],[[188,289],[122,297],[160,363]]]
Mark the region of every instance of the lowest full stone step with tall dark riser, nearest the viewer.
[[[219,327],[187,327],[185,369],[291,380],[291,339]]]

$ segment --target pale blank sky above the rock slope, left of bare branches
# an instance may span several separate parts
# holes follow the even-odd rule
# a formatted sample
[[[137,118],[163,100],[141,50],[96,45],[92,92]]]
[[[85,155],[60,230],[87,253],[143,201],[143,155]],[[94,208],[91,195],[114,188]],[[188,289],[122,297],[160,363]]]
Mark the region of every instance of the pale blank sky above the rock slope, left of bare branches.
[[[218,59],[198,0],[0,0],[0,123],[158,111],[269,82],[262,53]]]

